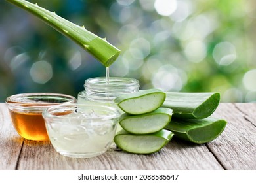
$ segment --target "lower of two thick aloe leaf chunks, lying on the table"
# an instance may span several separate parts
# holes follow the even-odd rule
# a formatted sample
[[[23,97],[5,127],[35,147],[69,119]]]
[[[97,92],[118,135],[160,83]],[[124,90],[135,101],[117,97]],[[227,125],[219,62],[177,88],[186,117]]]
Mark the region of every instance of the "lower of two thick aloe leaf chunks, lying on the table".
[[[203,144],[213,141],[223,133],[226,121],[216,118],[204,119],[172,119],[165,127],[175,134],[175,137],[185,141]]]

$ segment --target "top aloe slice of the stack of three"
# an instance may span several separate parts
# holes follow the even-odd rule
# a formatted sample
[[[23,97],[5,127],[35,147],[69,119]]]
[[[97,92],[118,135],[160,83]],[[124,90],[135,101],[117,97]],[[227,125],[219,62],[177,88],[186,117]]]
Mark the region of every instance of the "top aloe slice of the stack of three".
[[[119,95],[114,102],[128,114],[144,114],[152,112],[163,105],[165,92],[153,88],[139,92]]]

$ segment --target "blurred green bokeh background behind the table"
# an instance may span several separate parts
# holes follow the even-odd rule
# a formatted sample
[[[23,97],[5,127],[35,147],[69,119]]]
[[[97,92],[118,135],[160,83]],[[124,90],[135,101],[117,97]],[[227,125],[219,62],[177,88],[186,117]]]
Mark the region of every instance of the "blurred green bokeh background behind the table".
[[[254,0],[36,0],[121,50],[110,76],[141,89],[219,92],[256,101]],[[77,97],[106,68],[35,16],[0,1],[0,102],[28,92]]]

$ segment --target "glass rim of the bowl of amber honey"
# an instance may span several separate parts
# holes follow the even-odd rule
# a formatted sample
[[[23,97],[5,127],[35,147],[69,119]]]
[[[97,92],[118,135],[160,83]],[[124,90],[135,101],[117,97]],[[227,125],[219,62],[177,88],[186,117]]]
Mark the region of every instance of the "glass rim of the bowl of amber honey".
[[[41,112],[52,105],[76,102],[75,97],[62,93],[18,93],[5,99],[7,107]]]

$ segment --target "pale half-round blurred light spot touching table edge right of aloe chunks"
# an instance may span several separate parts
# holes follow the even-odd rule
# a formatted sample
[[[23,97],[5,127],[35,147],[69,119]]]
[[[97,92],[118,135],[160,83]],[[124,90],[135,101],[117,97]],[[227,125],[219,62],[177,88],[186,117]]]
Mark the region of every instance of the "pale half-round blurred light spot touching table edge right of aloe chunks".
[[[243,101],[243,93],[237,88],[229,88],[222,95],[222,101],[236,103]]]

